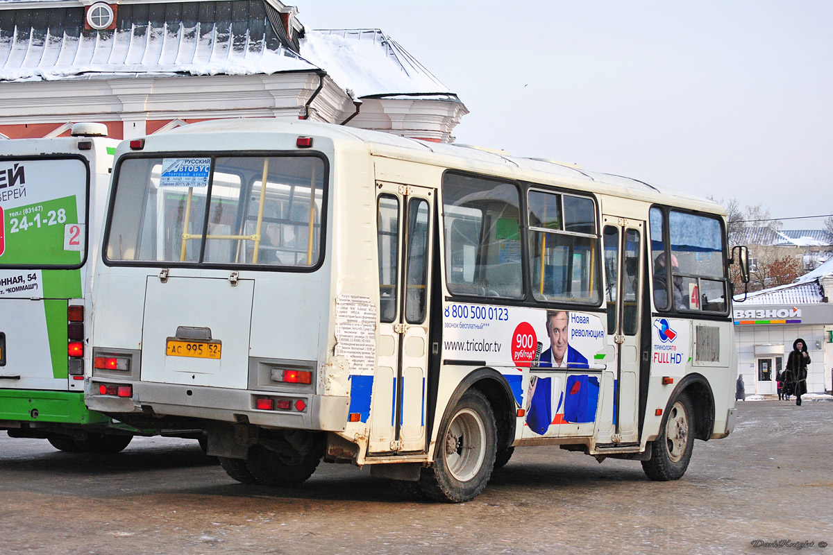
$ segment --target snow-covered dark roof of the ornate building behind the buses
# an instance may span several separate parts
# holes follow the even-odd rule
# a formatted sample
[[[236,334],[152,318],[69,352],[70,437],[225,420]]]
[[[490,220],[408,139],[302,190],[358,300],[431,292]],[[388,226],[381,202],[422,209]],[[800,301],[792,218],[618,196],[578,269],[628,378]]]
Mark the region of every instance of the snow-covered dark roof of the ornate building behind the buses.
[[[84,27],[83,7],[8,0],[0,28],[0,81],[251,75],[324,70],[354,97],[460,102],[379,29],[307,31],[292,42],[265,2],[131,2],[116,28]],[[219,4],[231,4],[223,8]],[[300,51],[299,52],[297,52]]]

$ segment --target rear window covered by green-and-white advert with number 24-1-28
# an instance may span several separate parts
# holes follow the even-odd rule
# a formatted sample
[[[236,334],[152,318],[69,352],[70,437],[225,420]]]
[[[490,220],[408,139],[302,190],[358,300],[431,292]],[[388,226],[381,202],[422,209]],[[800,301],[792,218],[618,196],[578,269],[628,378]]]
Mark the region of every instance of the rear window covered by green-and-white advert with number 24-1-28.
[[[0,161],[0,268],[77,268],[89,171],[77,158]]]

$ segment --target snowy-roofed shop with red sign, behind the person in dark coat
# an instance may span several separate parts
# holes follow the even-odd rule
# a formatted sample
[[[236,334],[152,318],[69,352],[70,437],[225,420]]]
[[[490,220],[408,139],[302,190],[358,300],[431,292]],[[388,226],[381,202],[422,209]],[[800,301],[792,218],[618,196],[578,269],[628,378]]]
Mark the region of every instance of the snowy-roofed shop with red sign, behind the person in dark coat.
[[[744,295],[735,295],[742,299]],[[833,374],[833,260],[789,285],[746,295],[733,304],[738,374],[747,393],[776,394],[776,374],[796,339],[807,342],[807,391],[831,391]],[[754,385],[754,389],[751,387]]]

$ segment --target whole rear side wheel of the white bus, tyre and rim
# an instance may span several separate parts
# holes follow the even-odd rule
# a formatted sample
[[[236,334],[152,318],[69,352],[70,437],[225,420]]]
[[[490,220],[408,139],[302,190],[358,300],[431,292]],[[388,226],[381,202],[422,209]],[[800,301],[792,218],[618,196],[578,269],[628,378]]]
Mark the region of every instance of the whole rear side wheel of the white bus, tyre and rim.
[[[422,469],[422,492],[435,501],[471,501],[486,488],[495,464],[497,429],[486,396],[466,391],[440,430],[434,463]]]

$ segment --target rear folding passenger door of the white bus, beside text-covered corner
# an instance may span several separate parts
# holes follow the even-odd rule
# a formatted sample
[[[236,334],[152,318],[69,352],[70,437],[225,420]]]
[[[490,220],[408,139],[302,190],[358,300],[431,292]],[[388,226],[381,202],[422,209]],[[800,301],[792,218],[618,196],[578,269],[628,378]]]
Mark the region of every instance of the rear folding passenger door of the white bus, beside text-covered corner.
[[[424,452],[434,191],[377,183],[379,343],[368,453]]]

